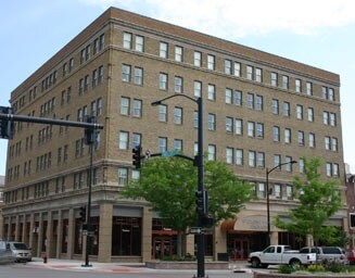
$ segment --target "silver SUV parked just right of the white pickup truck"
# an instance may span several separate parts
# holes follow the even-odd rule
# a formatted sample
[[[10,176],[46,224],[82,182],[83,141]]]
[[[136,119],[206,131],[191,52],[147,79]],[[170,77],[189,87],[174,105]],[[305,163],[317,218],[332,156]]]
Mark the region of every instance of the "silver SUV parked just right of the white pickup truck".
[[[300,253],[316,253],[317,261],[322,263],[340,262],[347,264],[345,250],[340,247],[305,247],[300,250]]]

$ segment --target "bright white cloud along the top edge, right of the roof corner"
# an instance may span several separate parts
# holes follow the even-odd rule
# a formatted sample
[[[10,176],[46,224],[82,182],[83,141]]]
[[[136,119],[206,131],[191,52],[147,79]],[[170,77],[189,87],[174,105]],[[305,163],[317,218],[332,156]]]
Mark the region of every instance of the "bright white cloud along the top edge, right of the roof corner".
[[[218,37],[277,30],[316,35],[355,22],[353,0],[80,0],[117,7]]]

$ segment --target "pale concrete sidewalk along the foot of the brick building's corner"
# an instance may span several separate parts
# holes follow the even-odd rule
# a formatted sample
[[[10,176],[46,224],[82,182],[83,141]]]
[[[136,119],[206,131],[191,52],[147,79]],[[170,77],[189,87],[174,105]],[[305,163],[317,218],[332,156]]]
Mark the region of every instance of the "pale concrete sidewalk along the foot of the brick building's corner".
[[[98,263],[89,262],[89,266],[85,266],[84,261],[75,260],[59,260],[49,258],[45,264],[41,257],[34,257],[33,262],[24,264],[25,267],[36,268],[50,268],[50,269],[63,269],[74,271],[103,271],[103,273],[161,273],[164,271],[180,271],[181,269],[153,269],[148,268],[143,263]],[[187,269],[187,273],[195,271],[195,269]],[[213,271],[213,270],[212,270]],[[252,273],[246,262],[230,262],[228,269],[218,270],[226,273]]]

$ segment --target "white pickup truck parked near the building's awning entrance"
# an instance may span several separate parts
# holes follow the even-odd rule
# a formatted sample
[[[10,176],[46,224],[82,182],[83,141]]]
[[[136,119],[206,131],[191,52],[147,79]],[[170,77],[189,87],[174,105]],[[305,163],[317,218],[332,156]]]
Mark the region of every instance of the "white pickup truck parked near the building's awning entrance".
[[[300,253],[289,245],[269,245],[264,251],[252,252],[249,255],[252,267],[268,265],[308,265],[316,263],[316,253]]]

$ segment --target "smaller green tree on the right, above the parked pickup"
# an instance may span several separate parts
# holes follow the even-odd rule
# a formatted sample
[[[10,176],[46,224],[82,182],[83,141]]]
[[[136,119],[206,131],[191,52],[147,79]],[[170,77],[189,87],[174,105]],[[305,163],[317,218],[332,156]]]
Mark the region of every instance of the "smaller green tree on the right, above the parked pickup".
[[[296,176],[293,180],[293,197],[300,204],[289,211],[287,220],[276,218],[278,228],[300,236],[310,235],[316,245],[319,240],[331,242],[337,237],[335,227],[326,226],[326,222],[341,208],[341,195],[337,179],[320,179],[319,157],[304,159],[305,179]]]

